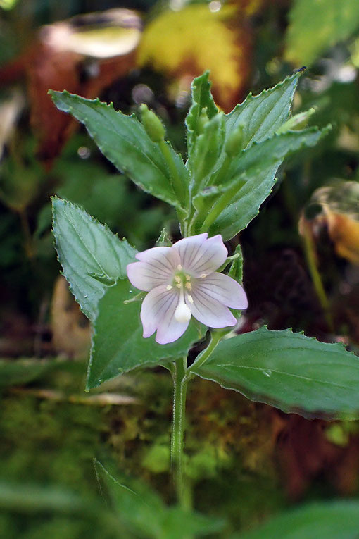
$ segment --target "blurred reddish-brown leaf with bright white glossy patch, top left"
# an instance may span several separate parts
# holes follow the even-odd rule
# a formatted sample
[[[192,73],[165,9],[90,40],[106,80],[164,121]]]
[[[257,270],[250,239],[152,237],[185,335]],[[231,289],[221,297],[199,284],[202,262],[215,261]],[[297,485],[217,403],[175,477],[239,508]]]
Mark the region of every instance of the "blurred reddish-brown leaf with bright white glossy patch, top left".
[[[30,120],[47,168],[78,125],[53,106],[48,90],[98,97],[134,67],[140,35],[134,11],[89,13],[43,27],[30,51],[0,70],[1,85],[27,78]]]

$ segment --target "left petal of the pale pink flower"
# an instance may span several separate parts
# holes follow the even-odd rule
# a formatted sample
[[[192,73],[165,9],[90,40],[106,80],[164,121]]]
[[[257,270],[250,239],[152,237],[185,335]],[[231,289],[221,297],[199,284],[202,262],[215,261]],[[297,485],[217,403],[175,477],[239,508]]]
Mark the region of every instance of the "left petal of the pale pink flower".
[[[153,247],[137,253],[136,258],[140,261],[128,264],[127,277],[132,285],[146,292],[170,283],[180,264],[180,256],[171,247]]]

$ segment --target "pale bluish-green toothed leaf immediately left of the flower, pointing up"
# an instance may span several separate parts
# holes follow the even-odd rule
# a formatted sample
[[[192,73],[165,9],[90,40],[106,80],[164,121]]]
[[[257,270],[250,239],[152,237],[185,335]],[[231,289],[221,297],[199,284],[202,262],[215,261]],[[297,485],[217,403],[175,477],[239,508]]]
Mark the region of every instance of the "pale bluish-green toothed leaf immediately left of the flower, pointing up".
[[[94,321],[106,283],[127,278],[136,251],[80,206],[53,197],[53,235],[63,274],[84,314]]]

